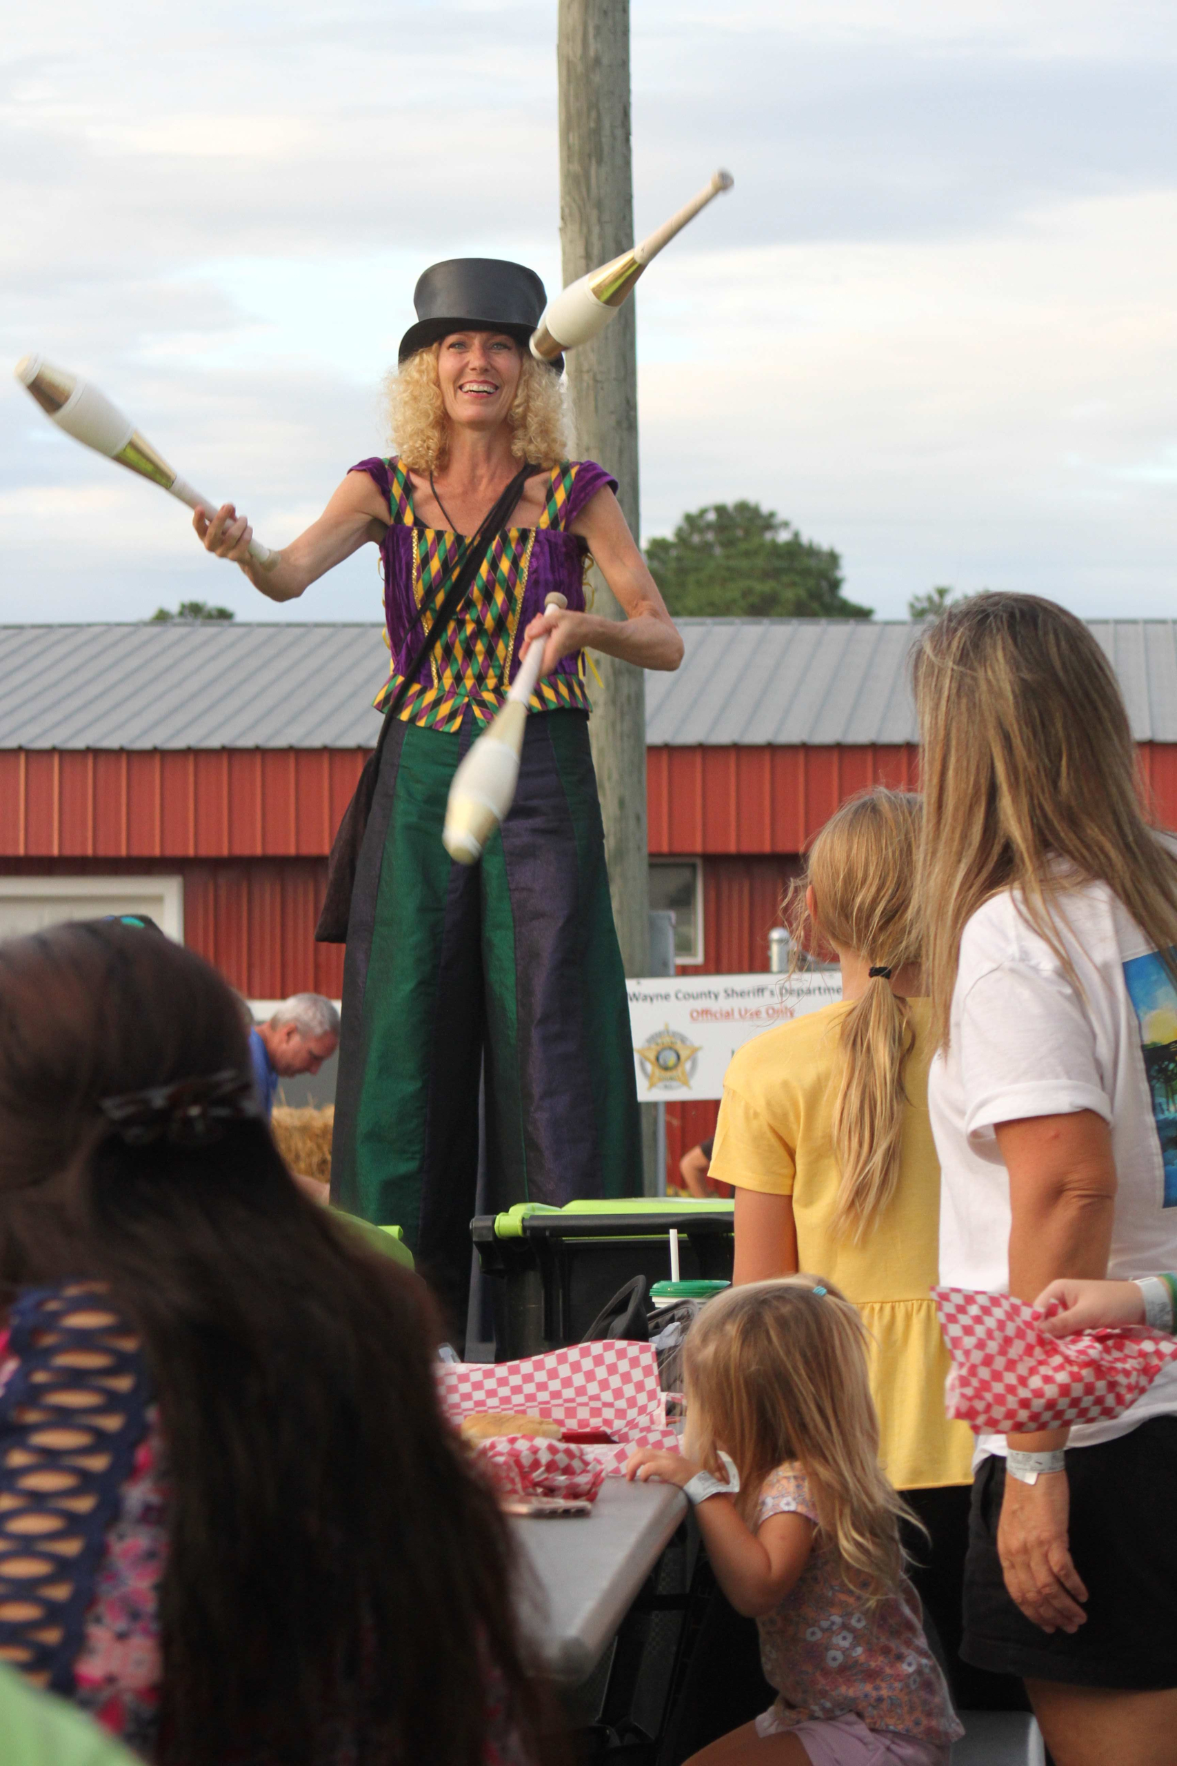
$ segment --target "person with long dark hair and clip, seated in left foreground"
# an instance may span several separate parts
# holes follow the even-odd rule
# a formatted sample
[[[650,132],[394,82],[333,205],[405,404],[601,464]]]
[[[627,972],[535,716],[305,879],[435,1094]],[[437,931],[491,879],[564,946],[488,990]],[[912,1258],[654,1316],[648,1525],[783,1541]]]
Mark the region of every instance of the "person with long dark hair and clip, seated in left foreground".
[[[544,1757],[425,1289],[295,1189],[192,952],[0,945],[0,1280],[9,1664],[159,1766]]]

